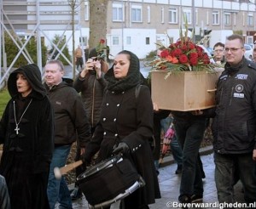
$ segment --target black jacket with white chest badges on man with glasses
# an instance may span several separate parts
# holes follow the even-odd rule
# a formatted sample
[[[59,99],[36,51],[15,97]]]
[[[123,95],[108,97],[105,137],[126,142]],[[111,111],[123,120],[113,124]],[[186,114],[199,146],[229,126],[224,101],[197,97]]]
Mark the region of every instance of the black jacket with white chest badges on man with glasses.
[[[218,78],[213,149],[220,154],[245,154],[256,149],[256,65],[243,59],[228,63]]]

